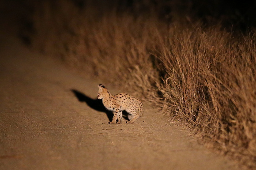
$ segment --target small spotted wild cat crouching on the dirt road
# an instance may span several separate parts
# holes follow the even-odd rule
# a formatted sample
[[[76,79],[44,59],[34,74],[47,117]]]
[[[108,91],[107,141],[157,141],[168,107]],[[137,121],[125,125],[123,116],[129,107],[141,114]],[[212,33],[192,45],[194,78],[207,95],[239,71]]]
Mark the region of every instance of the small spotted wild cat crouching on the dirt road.
[[[122,123],[122,111],[127,111],[132,118],[127,123],[133,123],[137,118],[141,117],[144,113],[144,107],[136,97],[126,93],[119,93],[111,95],[109,90],[104,85],[98,85],[98,99],[102,99],[103,105],[110,111],[113,111],[114,117],[110,124]],[[129,117],[128,117],[129,118]]]

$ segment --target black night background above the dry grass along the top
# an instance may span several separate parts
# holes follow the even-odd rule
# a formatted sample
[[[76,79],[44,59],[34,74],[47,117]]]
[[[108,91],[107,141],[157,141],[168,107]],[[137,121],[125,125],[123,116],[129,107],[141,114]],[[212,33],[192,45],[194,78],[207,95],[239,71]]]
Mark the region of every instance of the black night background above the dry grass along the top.
[[[46,0],[0,0],[2,17],[19,15],[27,29],[32,30],[33,12],[40,8],[40,2]],[[58,7],[61,0],[48,0]],[[256,0],[69,0],[78,10],[88,7],[98,9],[104,15],[108,11],[129,12],[132,15],[149,15],[154,13],[164,22],[171,23],[173,17],[200,20],[206,26],[221,24],[226,30],[246,32],[256,26]],[[3,16],[4,15],[4,16]],[[176,17],[177,18],[177,17]],[[3,23],[2,23],[3,25]]]

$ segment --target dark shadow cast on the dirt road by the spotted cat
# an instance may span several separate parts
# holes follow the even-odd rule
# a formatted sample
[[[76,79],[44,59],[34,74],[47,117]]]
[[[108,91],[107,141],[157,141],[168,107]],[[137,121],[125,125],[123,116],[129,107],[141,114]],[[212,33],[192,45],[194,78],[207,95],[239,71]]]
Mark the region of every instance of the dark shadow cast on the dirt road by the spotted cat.
[[[72,89],[71,91],[75,94],[75,96],[76,96],[76,98],[79,100],[79,102],[85,102],[85,103],[87,103],[87,105],[88,105],[90,108],[92,108],[92,109],[94,109],[94,110],[96,110],[96,111],[105,112],[105,114],[106,114],[107,117],[109,118],[109,121],[110,121],[110,122],[112,121],[112,119],[113,119],[113,113],[112,113],[112,111],[108,111],[108,110],[104,107],[104,105],[103,105],[103,103],[102,103],[102,100],[92,99],[92,98],[86,96],[85,94],[83,94],[82,92],[79,92],[79,91],[77,91],[77,90],[75,90],[75,89]]]

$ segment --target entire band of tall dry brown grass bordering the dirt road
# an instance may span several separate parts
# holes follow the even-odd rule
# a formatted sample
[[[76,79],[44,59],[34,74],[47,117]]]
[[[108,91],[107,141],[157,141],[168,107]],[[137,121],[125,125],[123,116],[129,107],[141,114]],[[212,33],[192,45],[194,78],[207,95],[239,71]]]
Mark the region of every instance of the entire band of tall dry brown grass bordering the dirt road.
[[[43,1],[34,48],[136,92],[223,153],[256,167],[256,34]],[[58,6],[56,8],[56,6]]]

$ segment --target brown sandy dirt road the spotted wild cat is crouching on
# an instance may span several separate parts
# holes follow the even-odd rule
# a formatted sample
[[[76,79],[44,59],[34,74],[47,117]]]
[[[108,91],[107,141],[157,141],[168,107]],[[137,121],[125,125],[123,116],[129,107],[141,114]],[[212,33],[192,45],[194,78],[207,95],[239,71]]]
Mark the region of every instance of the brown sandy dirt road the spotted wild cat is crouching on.
[[[147,105],[134,124],[109,125],[96,100],[104,82],[30,52],[7,32],[0,34],[0,170],[236,169]]]

